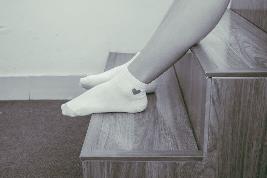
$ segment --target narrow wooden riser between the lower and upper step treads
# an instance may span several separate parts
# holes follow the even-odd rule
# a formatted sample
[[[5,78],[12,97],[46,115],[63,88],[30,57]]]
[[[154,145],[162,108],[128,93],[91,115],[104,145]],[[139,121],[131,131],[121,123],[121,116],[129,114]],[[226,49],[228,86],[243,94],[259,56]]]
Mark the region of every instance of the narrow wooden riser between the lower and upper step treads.
[[[205,77],[205,73],[190,51],[174,67],[198,147],[206,154],[211,79]]]

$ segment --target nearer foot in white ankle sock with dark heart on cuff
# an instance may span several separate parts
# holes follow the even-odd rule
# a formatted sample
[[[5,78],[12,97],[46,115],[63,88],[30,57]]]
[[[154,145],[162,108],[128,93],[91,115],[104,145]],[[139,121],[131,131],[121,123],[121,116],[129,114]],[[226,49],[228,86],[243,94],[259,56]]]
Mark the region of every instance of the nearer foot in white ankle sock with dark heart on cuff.
[[[62,114],[74,117],[103,112],[141,112],[147,107],[147,85],[125,67],[111,80],[61,105]]]

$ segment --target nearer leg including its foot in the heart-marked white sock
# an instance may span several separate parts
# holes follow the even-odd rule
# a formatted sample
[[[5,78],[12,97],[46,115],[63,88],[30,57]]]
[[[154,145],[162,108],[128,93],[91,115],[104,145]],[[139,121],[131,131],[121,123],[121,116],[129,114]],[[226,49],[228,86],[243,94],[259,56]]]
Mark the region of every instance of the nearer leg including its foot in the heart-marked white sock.
[[[176,2],[176,1],[175,1]],[[230,0],[180,0],[128,69],[61,106],[68,116],[141,112],[146,88],[217,25]]]

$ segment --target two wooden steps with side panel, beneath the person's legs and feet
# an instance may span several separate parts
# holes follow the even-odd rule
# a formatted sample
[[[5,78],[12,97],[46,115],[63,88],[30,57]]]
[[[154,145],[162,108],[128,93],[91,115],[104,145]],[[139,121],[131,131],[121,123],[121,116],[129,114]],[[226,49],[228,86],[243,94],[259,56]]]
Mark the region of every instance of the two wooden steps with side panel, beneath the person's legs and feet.
[[[105,70],[133,55],[110,53]],[[156,80],[143,112],[92,114],[80,154],[84,177],[267,176],[263,30],[227,10]]]

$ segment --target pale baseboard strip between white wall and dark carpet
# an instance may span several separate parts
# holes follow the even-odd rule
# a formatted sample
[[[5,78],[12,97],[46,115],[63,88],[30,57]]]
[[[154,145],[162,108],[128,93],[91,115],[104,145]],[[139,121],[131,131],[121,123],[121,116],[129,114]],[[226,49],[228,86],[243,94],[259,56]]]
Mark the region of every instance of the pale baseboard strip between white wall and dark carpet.
[[[86,90],[85,76],[0,77],[0,100],[71,100]]]

